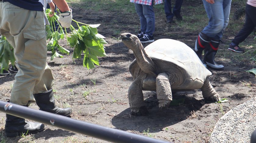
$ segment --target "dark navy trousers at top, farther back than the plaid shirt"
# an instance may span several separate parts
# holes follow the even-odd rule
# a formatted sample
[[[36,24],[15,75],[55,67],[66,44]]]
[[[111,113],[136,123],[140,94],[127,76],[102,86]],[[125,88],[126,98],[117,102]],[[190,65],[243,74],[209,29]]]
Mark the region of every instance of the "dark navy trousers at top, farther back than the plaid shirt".
[[[174,15],[180,15],[181,5],[183,0],[175,0],[175,5],[172,10],[171,0],[165,0],[165,15],[167,19],[173,18]]]

